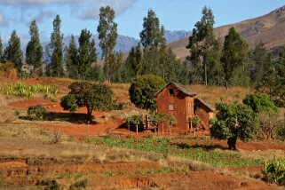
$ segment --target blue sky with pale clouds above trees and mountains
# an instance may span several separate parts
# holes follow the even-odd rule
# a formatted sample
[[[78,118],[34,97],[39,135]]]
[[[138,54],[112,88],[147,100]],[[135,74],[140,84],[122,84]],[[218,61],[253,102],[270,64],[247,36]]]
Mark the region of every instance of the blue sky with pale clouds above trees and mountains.
[[[29,22],[36,19],[41,40],[47,41],[56,14],[65,36],[79,35],[83,28],[95,34],[99,7],[105,5],[115,9],[119,34],[139,38],[149,9],[166,29],[191,30],[201,19],[204,5],[210,6],[215,27],[219,27],[272,12],[285,5],[285,0],[0,0],[0,34],[5,43],[16,29],[21,40],[28,42]]]

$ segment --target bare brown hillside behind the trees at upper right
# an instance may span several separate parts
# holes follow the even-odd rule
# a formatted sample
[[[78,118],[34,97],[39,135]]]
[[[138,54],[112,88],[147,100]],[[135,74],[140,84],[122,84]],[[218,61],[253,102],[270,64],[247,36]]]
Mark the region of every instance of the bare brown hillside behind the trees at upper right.
[[[263,42],[268,50],[281,46],[285,44],[285,6],[255,19],[215,28],[215,35],[223,39],[231,27],[236,28],[250,48],[260,42]],[[188,37],[170,43],[169,46],[179,59],[184,59],[188,55],[187,43]]]

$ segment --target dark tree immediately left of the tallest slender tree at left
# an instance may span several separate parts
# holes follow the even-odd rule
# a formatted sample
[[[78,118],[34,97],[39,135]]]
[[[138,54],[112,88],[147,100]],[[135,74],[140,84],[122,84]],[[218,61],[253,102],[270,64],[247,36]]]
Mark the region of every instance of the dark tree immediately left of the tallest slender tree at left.
[[[83,29],[78,40],[79,49],[76,70],[82,80],[86,79],[88,72],[91,70],[91,64],[97,60],[95,40],[91,39],[91,37],[91,32]]]

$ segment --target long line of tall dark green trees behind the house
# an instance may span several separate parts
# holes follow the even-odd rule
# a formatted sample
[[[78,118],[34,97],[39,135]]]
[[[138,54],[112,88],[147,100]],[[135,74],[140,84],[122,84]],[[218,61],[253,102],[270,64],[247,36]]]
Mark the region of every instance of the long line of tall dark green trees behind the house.
[[[210,8],[202,9],[189,36],[186,59],[177,59],[167,47],[164,27],[153,10],[143,18],[139,33],[140,43],[131,48],[128,56],[115,51],[117,23],[115,11],[109,6],[99,12],[99,42],[91,31],[83,29],[78,42],[71,36],[63,43],[59,15],[52,22],[50,43],[42,47],[36,20],[29,27],[30,39],[25,60],[20,50],[20,37],[12,31],[4,48],[0,37],[0,62],[12,62],[20,76],[46,75],[70,77],[108,83],[130,83],[138,75],[153,74],[167,82],[225,86],[250,86],[268,93],[280,106],[285,106],[285,47],[274,53],[266,51],[260,42],[253,50],[235,28],[230,28],[225,40],[214,35],[214,14]],[[94,29],[95,30],[95,29]],[[95,43],[102,49],[99,55]],[[100,60],[100,61],[98,61]]]

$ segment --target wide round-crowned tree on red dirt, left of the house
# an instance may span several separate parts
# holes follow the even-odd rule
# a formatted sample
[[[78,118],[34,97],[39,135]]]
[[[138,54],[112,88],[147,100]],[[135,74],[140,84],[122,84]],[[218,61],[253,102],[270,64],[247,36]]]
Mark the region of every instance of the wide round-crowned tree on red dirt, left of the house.
[[[93,110],[109,110],[113,107],[112,91],[105,84],[76,82],[68,86],[67,96],[61,99],[60,105],[65,110],[75,112],[78,107],[86,107],[89,119]]]

